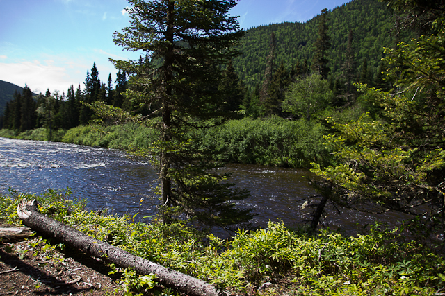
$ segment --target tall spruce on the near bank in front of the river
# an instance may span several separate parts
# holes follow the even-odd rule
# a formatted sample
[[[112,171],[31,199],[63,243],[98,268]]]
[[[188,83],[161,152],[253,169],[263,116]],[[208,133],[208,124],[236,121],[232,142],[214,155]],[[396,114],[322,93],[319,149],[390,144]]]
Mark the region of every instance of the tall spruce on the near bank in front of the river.
[[[238,52],[244,32],[229,16],[235,0],[129,0],[131,25],[114,35],[115,44],[144,51],[136,61],[113,60],[129,73],[126,96],[138,105],[158,105],[146,116],[160,132],[153,144],[161,185],[161,214],[169,223],[175,214],[205,225],[227,226],[251,218],[235,207],[245,191],[222,183],[211,170],[213,152],[197,143],[197,130],[223,121],[226,94],[218,92],[221,65]],[[174,212],[175,211],[175,212]]]

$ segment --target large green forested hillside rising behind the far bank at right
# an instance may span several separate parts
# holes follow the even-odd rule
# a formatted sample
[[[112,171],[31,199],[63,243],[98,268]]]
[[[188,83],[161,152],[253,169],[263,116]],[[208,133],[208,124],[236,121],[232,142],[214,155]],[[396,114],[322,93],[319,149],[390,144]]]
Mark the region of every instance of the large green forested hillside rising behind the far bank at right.
[[[261,83],[266,69],[271,33],[275,33],[275,67],[283,61],[288,71],[297,63],[307,60],[310,68],[317,39],[319,15],[306,23],[282,23],[250,28],[240,47],[241,56],[234,60],[234,68],[245,85]],[[395,18],[386,3],[378,0],[353,0],[327,14],[331,48],[329,64],[334,77],[339,75],[348,46],[348,33],[353,31],[353,49],[357,75],[366,59],[369,80],[377,73],[384,46],[392,47],[398,40],[408,41],[411,35],[396,36],[391,32]]]

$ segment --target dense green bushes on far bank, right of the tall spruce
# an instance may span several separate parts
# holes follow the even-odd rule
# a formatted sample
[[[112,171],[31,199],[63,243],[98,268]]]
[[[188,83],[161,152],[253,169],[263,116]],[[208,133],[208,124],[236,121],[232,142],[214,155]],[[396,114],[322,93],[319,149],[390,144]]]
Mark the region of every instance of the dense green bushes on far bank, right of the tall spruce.
[[[218,151],[218,160],[269,166],[309,167],[327,163],[323,125],[280,117],[228,121],[202,134],[202,145]]]

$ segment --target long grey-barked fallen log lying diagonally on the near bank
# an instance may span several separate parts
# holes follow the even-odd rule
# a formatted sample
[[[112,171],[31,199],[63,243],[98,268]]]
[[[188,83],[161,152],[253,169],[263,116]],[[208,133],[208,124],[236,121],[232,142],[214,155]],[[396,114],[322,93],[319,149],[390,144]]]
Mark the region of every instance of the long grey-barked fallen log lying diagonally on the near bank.
[[[36,232],[56,238],[58,241],[81,250],[81,252],[104,259],[121,268],[133,268],[140,275],[154,274],[163,286],[175,288],[182,293],[193,296],[230,295],[228,291],[221,290],[206,281],[134,256],[118,247],[99,241],[79,232],[79,230],[44,216],[38,212],[36,200],[32,202],[22,200],[17,206],[17,214],[24,225],[31,227]]]

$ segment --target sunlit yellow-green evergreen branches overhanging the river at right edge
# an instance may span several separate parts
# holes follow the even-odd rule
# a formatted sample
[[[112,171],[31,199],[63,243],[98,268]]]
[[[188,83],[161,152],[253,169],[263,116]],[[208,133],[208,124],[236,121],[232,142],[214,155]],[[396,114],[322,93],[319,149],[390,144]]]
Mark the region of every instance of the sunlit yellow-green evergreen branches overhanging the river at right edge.
[[[385,50],[387,80],[394,89],[360,87],[371,113],[346,124],[330,120],[337,132],[326,139],[338,164],[314,164],[312,171],[333,185],[334,202],[373,212],[402,211],[443,229],[444,52],[441,16],[432,21],[430,35]]]

